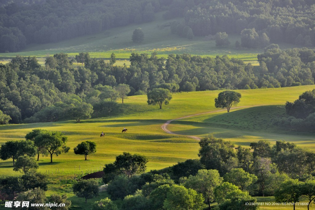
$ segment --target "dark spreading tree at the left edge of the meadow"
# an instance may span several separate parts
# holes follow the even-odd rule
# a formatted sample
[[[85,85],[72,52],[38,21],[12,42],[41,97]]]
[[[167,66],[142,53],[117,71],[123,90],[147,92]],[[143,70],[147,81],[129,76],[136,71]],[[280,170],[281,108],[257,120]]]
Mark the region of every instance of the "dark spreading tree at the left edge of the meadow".
[[[36,147],[30,140],[7,141],[5,144],[1,145],[0,148],[1,160],[8,160],[9,158],[12,158],[13,166],[14,160],[19,156],[28,155],[32,157],[35,154]]]

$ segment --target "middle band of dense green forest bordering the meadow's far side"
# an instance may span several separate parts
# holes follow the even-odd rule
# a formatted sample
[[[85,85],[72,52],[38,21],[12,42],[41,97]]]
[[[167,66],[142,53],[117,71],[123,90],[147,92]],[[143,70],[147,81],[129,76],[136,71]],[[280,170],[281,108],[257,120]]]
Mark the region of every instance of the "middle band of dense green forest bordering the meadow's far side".
[[[155,88],[177,91],[279,88],[314,84],[315,52],[268,46],[258,55],[260,66],[227,56],[215,58],[132,53],[130,67],[80,53],[54,54],[39,65],[35,57],[16,56],[0,64],[0,124],[80,122],[100,113],[119,113],[118,98],[147,94]],[[73,62],[81,65],[72,65]]]

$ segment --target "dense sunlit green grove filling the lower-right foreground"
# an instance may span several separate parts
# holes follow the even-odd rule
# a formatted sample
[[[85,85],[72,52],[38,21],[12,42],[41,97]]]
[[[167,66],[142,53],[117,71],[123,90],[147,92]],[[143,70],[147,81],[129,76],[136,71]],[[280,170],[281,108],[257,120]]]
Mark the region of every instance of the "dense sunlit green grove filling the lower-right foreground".
[[[103,181],[108,183],[111,199],[122,199],[122,206],[118,208],[108,198],[106,205],[114,209],[204,209],[207,204],[210,209],[217,202],[223,210],[245,209],[245,202],[256,202],[252,196],[275,196],[277,202],[292,204],[302,197],[309,203],[315,199],[315,153],[294,143],[277,141],[271,146],[268,140],[259,140],[244,148],[211,136],[199,145],[200,159],[148,173],[143,173],[145,157],[117,156],[114,163],[106,164]],[[95,202],[94,209],[99,205]]]

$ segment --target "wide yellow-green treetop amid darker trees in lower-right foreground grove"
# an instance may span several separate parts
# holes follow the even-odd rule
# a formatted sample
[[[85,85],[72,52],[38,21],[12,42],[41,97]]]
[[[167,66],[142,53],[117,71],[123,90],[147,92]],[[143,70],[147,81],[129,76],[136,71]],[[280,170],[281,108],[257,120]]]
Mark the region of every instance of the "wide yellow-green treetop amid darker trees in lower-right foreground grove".
[[[224,181],[235,184],[240,190],[246,190],[247,187],[257,181],[254,174],[245,172],[243,168],[234,168],[224,175]]]

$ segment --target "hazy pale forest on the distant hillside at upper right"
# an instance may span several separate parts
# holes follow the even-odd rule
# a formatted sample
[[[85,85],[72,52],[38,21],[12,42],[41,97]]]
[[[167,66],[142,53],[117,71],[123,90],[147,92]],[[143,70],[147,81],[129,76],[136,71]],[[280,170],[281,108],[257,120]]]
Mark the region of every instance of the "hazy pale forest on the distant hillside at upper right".
[[[254,29],[256,37],[268,37],[272,43],[315,45],[314,2],[310,0],[174,0],[164,17],[184,18],[171,27],[182,37],[189,29],[195,36],[240,34],[244,29]]]

